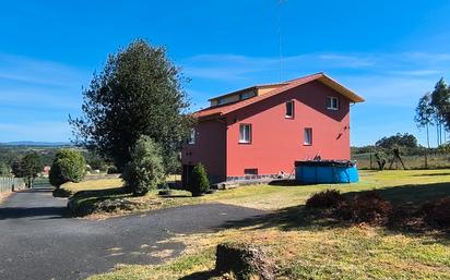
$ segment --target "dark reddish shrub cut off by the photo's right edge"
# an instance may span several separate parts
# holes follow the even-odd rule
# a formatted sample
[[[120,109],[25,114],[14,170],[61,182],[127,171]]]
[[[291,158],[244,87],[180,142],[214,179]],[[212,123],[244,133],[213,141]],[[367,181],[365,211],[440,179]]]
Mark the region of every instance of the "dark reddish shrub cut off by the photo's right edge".
[[[450,229],[450,196],[427,203],[422,207],[424,220],[429,226]]]

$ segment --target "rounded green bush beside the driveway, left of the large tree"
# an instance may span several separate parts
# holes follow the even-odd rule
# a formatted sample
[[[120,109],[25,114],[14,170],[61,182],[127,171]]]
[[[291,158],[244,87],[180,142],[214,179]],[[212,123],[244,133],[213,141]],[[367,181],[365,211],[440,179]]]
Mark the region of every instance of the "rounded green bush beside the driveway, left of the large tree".
[[[61,149],[51,165],[50,184],[59,187],[67,182],[80,182],[86,172],[86,162],[81,153],[71,149]]]

